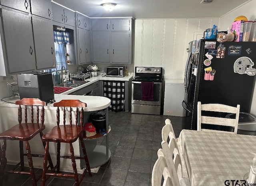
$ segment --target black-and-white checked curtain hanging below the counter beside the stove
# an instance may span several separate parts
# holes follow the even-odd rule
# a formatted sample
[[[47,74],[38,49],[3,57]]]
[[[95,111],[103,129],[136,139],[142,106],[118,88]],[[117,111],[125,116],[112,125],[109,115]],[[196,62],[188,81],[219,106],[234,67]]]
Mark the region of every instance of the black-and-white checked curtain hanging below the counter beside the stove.
[[[109,110],[124,111],[124,81],[103,81],[104,97],[110,98]]]

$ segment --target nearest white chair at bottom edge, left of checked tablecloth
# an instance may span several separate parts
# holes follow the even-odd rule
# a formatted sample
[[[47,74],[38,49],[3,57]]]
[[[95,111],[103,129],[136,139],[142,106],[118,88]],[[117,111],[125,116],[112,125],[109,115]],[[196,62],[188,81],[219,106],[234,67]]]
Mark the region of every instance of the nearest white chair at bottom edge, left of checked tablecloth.
[[[160,148],[157,153],[163,154],[162,149]],[[164,178],[164,182],[162,182],[162,178]],[[172,183],[170,169],[168,167],[168,164],[164,156],[158,156],[158,159],[154,164],[154,167],[152,170],[151,185],[152,186],[175,186]]]

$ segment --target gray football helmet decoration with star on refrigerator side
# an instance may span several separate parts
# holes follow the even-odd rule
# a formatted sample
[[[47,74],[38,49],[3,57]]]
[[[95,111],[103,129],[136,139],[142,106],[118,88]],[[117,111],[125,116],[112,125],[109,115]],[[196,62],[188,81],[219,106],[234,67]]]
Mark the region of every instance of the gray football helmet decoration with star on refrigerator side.
[[[254,62],[248,57],[240,57],[234,62],[234,72],[238,74],[247,74],[249,76],[255,76],[256,69],[252,68]]]

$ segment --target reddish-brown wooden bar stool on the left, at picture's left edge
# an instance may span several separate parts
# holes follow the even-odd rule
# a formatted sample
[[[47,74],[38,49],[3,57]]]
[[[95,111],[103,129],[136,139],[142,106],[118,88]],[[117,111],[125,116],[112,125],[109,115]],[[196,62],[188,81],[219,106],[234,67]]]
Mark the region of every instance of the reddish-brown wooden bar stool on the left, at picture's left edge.
[[[32,185],[36,186],[36,182],[41,178],[35,177],[34,167],[32,156],[34,157],[44,157],[44,155],[40,154],[31,154],[29,140],[34,138],[36,134],[40,133],[40,137],[42,138],[43,130],[45,129],[44,125],[44,106],[46,106],[46,102],[37,99],[37,98],[23,98],[20,101],[16,101],[16,105],[20,105],[18,107],[18,122],[19,124],[13,126],[12,128],[2,132],[0,134],[0,140],[4,140],[2,143],[2,156],[1,156],[1,164],[0,164],[0,185],[2,185],[3,179],[5,178],[4,172],[8,173],[17,173],[17,174],[30,174]],[[25,106],[24,115],[25,115],[25,122],[22,123],[22,108],[21,105]],[[28,106],[31,106],[31,123],[28,123]],[[33,107],[34,106],[34,107]],[[41,109],[40,109],[40,108]],[[34,108],[36,108],[36,121],[34,121]],[[41,110],[41,114],[39,114]],[[41,124],[39,123],[39,116],[41,115]],[[7,159],[6,159],[6,140],[18,140],[20,141],[20,162],[14,167],[13,170],[5,170]],[[23,151],[23,142],[26,143],[26,154]],[[46,143],[43,142],[43,146],[45,148]],[[24,171],[24,156],[28,157],[28,164],[29,164],[29,172]],[[53,169],[52,160],[49,156],[48,158],[49,166]],[[46,162],[47,164],[47,162]],[[21,167],[21,171],[15,171],[18,166]]]

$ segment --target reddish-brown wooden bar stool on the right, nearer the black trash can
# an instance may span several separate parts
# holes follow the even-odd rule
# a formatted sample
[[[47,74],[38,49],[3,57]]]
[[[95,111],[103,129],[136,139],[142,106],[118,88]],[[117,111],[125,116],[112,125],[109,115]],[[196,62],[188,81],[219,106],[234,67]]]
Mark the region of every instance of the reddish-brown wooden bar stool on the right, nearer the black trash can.
[[[46,178],[48,176],[56,176],[56,177],[73,177],[75,180],[75,185],[80,186],[82,179],[86,172],[89,172],[89,176],[92,176],[88,157],[86,154],[86,149],[84,146],[84,107],[86,107],[86,103],[81,102],[80,100],[61,100],[60,102],[54,103],[54,106],[57,107],[57,126],[52,128],[49,132],[42,136],[42,141],[46,142],[45,153],[44,153],[44,166],[42,172],[42,186],[45,186]],[[60,107],[63,110],[63,125],[60,125]],[[72,108],[73,107],[73,108]],[[68,116],[70,123],[66,125],[66,108],[69,108]],[[78,125],[78,108],[80,109],[80,125]],[[75,109],[75,124],[72,124],[72,109]],[[82,151],[84,157],[74,156],[74,148],[72,146],[73,142],[79,138]],[[47,172],[47,160],[49,155],[49,142],[57,143],[57,162],[56,166],[54,166],[55,172]],[[60,143],[69,143],[70,146],[70,156],[60,156]],[[50,157],[50,156],[49,156]],[[60,158],[69,158],[72,160],[72,167],[74,174],[61,174],[60,173]],[[84,170],[80,180],[78,179],[78,173],[76,169],[76,159],[84,159],[86,162],[86,169]]]

